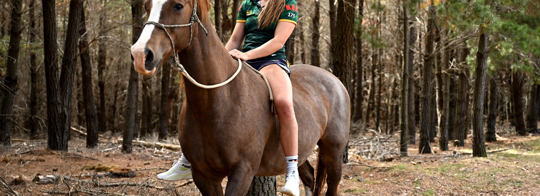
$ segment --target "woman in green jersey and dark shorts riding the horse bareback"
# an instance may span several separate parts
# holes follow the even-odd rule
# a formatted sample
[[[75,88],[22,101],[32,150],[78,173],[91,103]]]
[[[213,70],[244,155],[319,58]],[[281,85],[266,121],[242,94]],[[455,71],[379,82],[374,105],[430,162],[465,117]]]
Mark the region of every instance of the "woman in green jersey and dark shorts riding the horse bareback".
[[[298,20],[295,0],[246,0],[238,10],[233,33],[225,48],[235,59],[241,59],[264,73],[272,88],[279,119],[281,146],[285,153],[287,175],[281,192],[300,195],[298,172],[298,124],[293,109],[293,90],[285,42]],[[237,50],[245,38],[242,51]],[[191,164],[182,154],[172,167],[158,174],[162,180],[191,179]]]

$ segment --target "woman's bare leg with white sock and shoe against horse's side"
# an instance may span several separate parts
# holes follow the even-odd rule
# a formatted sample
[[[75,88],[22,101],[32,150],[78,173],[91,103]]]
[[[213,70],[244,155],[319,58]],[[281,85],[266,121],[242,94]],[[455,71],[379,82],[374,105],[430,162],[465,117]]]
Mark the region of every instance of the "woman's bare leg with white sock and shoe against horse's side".
[[[279,65],[272,64],[261,69],[270,83],[275,109],[279,119],[279,138],[285,153],[287,177],[281,192],[300,195],[298,173],[298,124],[293,109],[293,87],[291,79]]]

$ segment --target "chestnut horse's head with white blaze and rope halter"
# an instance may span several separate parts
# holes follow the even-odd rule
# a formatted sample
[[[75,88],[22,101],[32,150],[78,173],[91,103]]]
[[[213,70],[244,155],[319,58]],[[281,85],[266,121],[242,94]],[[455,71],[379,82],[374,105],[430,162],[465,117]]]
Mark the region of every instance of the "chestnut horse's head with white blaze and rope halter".
[[[198,0],[197,14],[205,21],[210,9],[208,0]],[[194,0],[147,0],[144,4],[148,22],[162,25],[190,24],[193,17]],[[197,28],[192,24],[191,28]],[[190,26],[166,28],[174,43],[174,50],[185,49],[190,44]],[[142,75],[152,75],[163,59],[170,58],[175,51],[167,32],[154,24],[146,24],[137,43],[131,46],[133,65]]]

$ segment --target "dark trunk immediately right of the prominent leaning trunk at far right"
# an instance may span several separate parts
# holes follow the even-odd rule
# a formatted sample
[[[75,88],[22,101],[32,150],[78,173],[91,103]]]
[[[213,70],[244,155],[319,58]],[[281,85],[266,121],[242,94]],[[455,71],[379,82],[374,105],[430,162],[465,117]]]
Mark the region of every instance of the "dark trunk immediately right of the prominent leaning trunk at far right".
[[[497,102],[497,72],[495,72],[495,75],[490,77],[488,132],[485,133],[485,141],[497,141],[497,137],[495,137]]]

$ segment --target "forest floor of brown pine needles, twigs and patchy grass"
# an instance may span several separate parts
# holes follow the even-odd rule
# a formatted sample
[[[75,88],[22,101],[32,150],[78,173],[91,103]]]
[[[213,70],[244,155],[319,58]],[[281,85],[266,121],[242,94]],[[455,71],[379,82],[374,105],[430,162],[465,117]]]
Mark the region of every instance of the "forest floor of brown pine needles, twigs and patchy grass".
[[[157,180],[156,174],[171,166],[180,155],[178,151],[134,145],[132,154],[124,154],[114,138],[100,140],[99,147],[87,149],[84,138],[74,136],[68,152],[51,152],[46,150],[45,142],[13,140],[12,147],[1,150],[0,177],[19,195],[200,195],[191,180]],[[352,164],[343,166],[341,193],[540,195],[540,136],[500,136],[498,141],[487,143],[488,152],[505,151],[489,153],[487,158],[452,156],[470,153],[470,145],[469,136],[465,147],[441,152],[435,142],[431,143],[434,153],[422,156],[417,144],[409,145],[409,157],[390,155],[381,159],[384,161],[357,156],[359,153],[353,149],[349,156]],[[310,159],[316,157],[315,153]],[[136,176],[112,178],[106,173],[126,169]],[[62,180],[42,185],[32,181],[36,175],[56,175]],[[285,179],[277,179],[279,189]],[[224,188],[226,182],[222,183]],[[1,185],[0,195],[9,195],[9,187]]]

